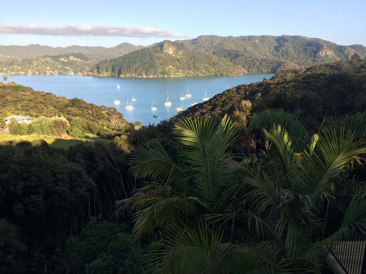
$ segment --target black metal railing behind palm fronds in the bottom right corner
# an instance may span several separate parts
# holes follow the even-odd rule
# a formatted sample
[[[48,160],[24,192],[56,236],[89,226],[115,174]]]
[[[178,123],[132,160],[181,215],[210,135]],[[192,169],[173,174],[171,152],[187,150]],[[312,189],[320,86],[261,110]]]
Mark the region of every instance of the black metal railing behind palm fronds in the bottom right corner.
[[[336,195],[325,204],[325,236],[339,230],[352,195]],[[366,274],[366,233],[361,228],[350,228],[330,250],[347,274]]]

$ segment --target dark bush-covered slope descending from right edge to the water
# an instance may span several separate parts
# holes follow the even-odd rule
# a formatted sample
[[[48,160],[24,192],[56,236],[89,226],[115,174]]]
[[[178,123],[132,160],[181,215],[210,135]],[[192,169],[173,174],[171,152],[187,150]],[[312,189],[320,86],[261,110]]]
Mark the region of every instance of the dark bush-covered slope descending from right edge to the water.
[[[235,114],[243,100],[251,101],[253,113],[268,108],[297,112],[316,130],[326,115],[346,115],[366,109],[366,59],[281,71],[270,80],[226,90],[171,119]]]

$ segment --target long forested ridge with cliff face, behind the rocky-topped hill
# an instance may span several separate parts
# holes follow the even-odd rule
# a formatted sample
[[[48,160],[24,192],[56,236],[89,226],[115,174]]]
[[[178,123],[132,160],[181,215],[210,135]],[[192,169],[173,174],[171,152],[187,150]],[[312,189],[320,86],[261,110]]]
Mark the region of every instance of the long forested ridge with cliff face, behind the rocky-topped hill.
[[[249,73],[275,73],[280,69],[306,68],[349,59],[355,52],[361,57],[366,56],[366,47],[362,45],[340,46],[318,38],[290,35],[202,35],[179,42],[187,49],[224,57]]]

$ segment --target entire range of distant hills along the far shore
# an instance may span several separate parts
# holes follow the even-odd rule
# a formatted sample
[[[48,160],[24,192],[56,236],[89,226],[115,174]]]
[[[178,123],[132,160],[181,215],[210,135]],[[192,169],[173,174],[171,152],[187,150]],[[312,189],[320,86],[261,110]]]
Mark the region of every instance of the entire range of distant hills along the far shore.
[[[72,61],[70,56],[76,53],[85,55],[88,61]],[[50,73],[81,71],[88,75],[124,77],[240,75],[307,68],[340,59],[348,60],[354,53],[364,58],[366,47],[341,46],[318,38],[290,35],[202,35],[183,41],[163,41],[146,47],[130,43],[109,48],[0,46],[0,72],[44,72],[46,69]],[[65,56],[68,60],[50,57],[64,54],[70,54]]]

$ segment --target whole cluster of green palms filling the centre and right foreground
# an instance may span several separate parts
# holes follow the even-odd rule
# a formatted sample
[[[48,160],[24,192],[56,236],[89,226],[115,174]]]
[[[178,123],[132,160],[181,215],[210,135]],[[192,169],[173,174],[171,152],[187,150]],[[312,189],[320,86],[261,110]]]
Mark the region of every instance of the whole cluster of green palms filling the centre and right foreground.
[[[272,112],[255,118],[265,127],[265,152],[241,163],[230,151],[237,133],[226,116],[219,125],[176,123],[176,160],[154,141],[135,151],[132,172],[153,182],[119,204],[136,212],[135,237],[163,231],[162,249],[149,262],[152,271],[319,273],[326,252],[348,228],[366,227],[363,196],[352,200],[339,231],[325,239],[320,214],[344,174],[361,164],[364,140],[331,126],[307,136],[296,116]]]

